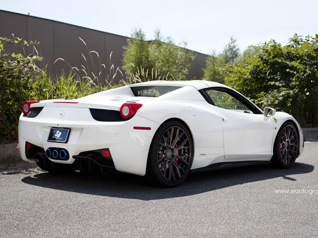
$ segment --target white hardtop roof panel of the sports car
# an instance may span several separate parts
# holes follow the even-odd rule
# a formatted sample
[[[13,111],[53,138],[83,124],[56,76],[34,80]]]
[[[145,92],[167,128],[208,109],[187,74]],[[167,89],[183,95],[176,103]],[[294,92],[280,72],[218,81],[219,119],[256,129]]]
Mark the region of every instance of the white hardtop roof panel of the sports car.
[[[165,81],[165,80],[157,80],[157,81],[148,81],[142,83],[136,83],[129,85],[130,87],[138,87],[138,86],[151,86],[151,85],[161,85],[161,86],[192,86],[195,87],[197,90],[203,88],[211,88],[211,87],[225,87],[229,88],[228,86],[212,82],[212,81],[205,81],[205,80],[184,80],[184,81]]]

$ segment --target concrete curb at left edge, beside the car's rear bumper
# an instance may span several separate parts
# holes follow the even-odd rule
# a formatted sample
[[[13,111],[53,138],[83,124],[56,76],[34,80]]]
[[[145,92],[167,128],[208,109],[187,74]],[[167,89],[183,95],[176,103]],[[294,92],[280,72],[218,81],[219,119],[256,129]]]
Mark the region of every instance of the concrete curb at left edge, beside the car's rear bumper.
[[[0,145],[0,169],[9,169],[17,167],[36,167],[35,163],[29,163],[22,160],[19,150],[19,144]]]

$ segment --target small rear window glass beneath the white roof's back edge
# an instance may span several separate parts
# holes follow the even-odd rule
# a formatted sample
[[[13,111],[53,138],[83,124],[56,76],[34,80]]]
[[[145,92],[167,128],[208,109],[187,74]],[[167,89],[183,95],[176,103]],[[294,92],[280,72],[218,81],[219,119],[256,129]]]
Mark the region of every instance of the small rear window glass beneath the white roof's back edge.
[[[135,86],[130,87],[135,97],[159,97],[163,94],[172,92],[182,86]]]

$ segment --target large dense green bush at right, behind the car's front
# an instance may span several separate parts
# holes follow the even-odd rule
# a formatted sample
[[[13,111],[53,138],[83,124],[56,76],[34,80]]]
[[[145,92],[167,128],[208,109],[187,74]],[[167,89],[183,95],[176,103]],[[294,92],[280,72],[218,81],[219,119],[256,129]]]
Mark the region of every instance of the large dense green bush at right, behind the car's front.
[[[226,65],[226,84],[261,108],[287,112],[304,127],[318,126],[318,35],[295,34],[286,46],[271,40],[251,49],[256,54]]]

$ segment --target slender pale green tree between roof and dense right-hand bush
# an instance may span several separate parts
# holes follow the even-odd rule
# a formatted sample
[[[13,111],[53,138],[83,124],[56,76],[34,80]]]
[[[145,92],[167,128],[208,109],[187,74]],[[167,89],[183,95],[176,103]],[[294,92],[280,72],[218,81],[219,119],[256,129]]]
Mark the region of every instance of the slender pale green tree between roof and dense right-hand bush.
[[[227,63],[233,63],[240,58],[240,51],[237,45],[237,40],[231,36],[231,40],[223,49],[221,54],[216,54],[215,51],[206,60],[206,66],[203,69],[203,79],[224,83],[226,71],[224,70]]]

